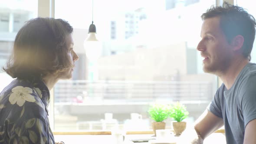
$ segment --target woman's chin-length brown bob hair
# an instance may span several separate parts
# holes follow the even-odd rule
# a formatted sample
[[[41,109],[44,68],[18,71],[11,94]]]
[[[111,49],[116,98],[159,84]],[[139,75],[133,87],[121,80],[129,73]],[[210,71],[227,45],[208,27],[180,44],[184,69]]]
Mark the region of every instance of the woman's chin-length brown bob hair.
[[[16,35],[13,54],[3,67],[13,78],[42,79],[73,67],[66,37],[73,32],[68,22],[35,18],[26,22]]]

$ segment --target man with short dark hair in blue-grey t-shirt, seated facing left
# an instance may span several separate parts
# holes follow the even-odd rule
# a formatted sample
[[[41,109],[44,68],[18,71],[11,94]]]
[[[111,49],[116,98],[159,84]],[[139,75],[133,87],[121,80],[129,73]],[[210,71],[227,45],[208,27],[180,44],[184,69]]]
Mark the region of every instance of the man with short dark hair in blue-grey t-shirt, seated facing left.
[[[255,39],[255,19],[242,7],[226,2],[201,16],[203,25],[197,50],[204,72],[223,84],[194,126],[203,139],[225,126],[227,144],[256,144],[256,64],[250,63]]]

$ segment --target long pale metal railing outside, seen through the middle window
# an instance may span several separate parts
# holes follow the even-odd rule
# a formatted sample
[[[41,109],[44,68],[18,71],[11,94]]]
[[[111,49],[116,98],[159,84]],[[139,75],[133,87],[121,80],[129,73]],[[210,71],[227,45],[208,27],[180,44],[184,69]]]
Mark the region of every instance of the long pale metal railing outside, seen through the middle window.
[[[211,101],[211,82],[161,81],[59,81],[54,89],[55,103]]]

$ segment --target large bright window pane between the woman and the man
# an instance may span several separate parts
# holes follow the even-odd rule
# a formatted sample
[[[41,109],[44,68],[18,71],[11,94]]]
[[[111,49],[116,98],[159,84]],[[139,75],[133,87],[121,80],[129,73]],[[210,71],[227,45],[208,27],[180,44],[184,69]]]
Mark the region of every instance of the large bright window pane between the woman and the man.
[[[70,7],[72,3],[72,7]],[[74,27],[72,80],[55,86],[55,131],[151,129],[150,105],[180,101],[192,124],[217,89],[197,52],[201,14],[215,0],[94,0],[99,48],[90,51],[92,0],[55,0],[55,17]],[[97,59],[98,55],[98,59]],[[87,57],[86,57],[87,56]],[[172,128],[171,119],[166,128]]]

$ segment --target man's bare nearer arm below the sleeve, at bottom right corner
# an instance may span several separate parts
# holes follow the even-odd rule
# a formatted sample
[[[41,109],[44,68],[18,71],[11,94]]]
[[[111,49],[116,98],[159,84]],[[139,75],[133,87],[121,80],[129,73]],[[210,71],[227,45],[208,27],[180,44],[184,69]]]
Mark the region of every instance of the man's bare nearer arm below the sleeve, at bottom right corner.
[[[256,134],[256,119],[250,121],[246,125],[243,144],[256,144],[255,134]]]

